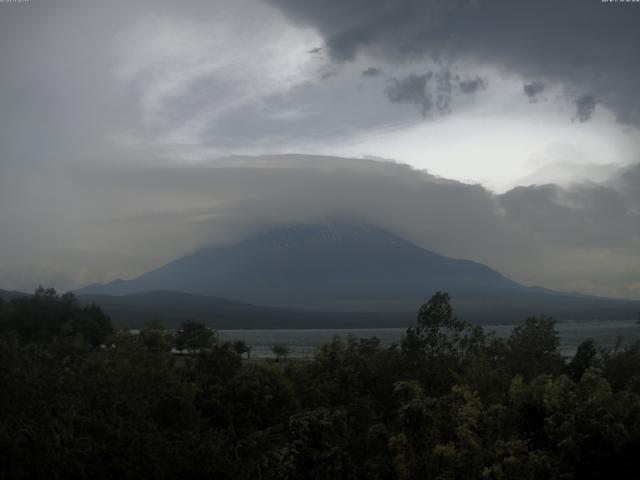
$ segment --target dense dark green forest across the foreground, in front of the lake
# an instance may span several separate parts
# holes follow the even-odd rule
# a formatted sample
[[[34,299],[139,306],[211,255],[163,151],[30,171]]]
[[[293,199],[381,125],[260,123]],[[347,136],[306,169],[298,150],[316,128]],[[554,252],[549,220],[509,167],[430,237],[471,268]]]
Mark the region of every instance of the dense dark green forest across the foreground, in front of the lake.
[[[398,345],[248,357],[51,289],[0,302],[0,478],[640,478],[640,343],[565,359],[552,319],[499,339],[437,293]]]

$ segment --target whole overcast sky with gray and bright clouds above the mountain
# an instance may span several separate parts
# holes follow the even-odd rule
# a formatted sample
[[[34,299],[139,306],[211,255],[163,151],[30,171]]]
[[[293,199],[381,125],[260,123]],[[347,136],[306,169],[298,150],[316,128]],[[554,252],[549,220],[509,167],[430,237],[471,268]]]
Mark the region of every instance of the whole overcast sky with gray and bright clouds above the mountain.
[[[0,288],[350,215],[640,298],[638,45],[640,2],[0,2]]]

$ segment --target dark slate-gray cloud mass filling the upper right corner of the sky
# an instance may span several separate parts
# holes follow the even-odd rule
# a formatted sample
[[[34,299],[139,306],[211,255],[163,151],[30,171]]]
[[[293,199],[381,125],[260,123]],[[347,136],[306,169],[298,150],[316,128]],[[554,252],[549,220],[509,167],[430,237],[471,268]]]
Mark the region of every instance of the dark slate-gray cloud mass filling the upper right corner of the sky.
[[[426,57],[494,64],[524,78],[591,92],[620,121],[640,125],[637,3],[270,1],[296,21],[315,27],[336,61],[366,51],[396,63]],[[577,118],[587,119],[589,111],[579,109]]]

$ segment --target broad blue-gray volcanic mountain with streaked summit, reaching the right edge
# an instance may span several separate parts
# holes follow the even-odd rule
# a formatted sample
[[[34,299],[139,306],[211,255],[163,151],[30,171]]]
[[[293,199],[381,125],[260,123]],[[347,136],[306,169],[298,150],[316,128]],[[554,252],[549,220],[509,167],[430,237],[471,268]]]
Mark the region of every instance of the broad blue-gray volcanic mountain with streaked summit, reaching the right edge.
[[[276,228],[229,247],[197,251],[133,280],[80,294],[171,290],[240,302],[324,311],[415,311],[433,292],[480,321],[505,315],[633,318],[633,302],[524,287],[489,267],[443,257],[376,227],[327,222]]]

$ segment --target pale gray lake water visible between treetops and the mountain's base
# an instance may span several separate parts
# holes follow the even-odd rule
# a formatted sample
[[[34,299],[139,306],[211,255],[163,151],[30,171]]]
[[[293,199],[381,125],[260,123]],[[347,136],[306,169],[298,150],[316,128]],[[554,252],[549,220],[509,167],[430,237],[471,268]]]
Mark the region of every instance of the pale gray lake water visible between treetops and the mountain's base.
[[[494,331],[499,337],[508,337],[517,325],[486,325],[485,331]],[[603,347],[613,347],[622,336],[624,344],[640,340],[640,325],[635,320],[610,322],[557,323],[560,334],[560,349],[564,355],[573,355],[578,345],[587,338],[593,338]],[[363,328],[363,329],[317,329],[317,330],[220,330],[220,340],[243,340],[251,348],[255,358],[272,358],[274,345],[286,345],[290,358],[311,357],[316,349],[334,337],[346,340],[354,338],[378,337],[383,345],[399,343],[406,328]]]

